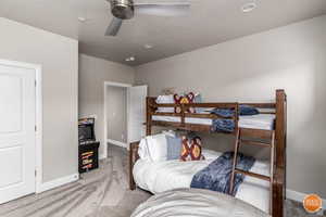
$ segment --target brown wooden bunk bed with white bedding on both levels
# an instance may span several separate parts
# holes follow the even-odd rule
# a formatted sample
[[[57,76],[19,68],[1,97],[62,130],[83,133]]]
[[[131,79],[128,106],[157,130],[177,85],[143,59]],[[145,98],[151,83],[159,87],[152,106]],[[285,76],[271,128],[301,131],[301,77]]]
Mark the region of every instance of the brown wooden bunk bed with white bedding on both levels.
[[[260,112],[258,115],[241,116],[239,107],[241,105],[253,106]],[[240,129],[246,129],[246,135],[250,138],[260,139],[266,131],[275,136],[275,146],[271,154],[273,164],[266,162],[256,162],[251,168],[253,173],[247,173],[246,179],[236,194],[237,199],[248,202],[264,212],[268,212],[273,217],[284,216],[284,200],[286,188],[286,133],[287,133],[287,97],[285,90],[276,90],[275,102],[272,103],[158,103],[156,98],[147,98],[147,136],[152,135],[153,127],[167,127],[186,131],[197,132],[227,132],[230,136],[236,136],[236,146],[242,142],[239,138]],[[212,114],[211,112],[189,113],[189,108],[211,110],[229,110],[233,115],[229,117]],[[167,110],[168,108],[168,110]],[[179,112],[173,112],[173,108],[179,108]],[[165,111],[164,111],[165,110]],[[162,112],[164,111],[164,112]],[[212,123],[215,120],[227,120],[234,123],[234,128],[229,131],[212,130]],[[244,135],[244,133],[243,133]],[[274,140],[273,140],[274,141]],[[260,143],[260,142],[255,142]],[[274,142],[273,142],[274,143]],[[275,150],[274,150],[275,148]],[[137,186],[152,193],[161,193],[171,189],[189,188],[190,181],[195,174],[206,167],[210,162],[218,157],[218,152],[208,152],[205,161],[200,163],[186,162],[160,162],[145,163],[139,159],[138,155],[139,142],[130,143],[129,154],[129,173],[130,173],[130,189],[135,190]],[[269,165],[272,167],[269,168]],[[269,173],[272,171],[272,173]],[[268,176],[268,181],[255,179],[260,177],[258,174]],[[255,175],[255,178],[250,176]],[[135,182],[136,181],[136,182]],[[136,184],[137,183],[137,184]],[[231,182],[233,183],[233,182]]]

